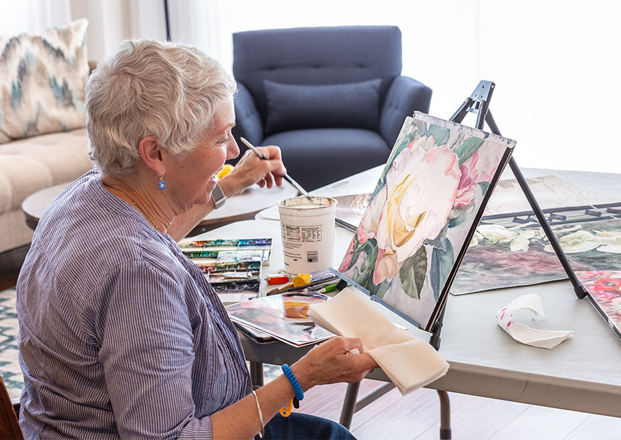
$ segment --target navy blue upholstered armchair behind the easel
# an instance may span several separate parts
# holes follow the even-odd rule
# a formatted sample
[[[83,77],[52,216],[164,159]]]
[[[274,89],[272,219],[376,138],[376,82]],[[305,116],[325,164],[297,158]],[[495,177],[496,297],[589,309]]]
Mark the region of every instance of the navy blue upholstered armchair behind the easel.
[[[314,27],[233,34],[237,126],[278,145],[308,191],[385,163],[405,117],[429,111],[431,89],[401,75],[401,31]]]

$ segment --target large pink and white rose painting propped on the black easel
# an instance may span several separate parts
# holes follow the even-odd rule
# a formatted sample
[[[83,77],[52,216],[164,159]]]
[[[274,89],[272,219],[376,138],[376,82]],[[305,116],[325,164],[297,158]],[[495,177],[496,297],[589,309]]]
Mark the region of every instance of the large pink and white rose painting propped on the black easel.
[[[515,143],[407,118],[339,272],[430,329]]]

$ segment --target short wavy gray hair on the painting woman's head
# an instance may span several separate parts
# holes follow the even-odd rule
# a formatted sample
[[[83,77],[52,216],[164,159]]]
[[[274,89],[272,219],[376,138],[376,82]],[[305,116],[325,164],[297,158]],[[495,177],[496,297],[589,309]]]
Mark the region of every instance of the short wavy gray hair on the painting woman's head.
[[[170,154],[190,152],[234,93],[231,75],[196,47],[126,40],[87,82],[89,157],[102,173],[124,175],[147,136]]]

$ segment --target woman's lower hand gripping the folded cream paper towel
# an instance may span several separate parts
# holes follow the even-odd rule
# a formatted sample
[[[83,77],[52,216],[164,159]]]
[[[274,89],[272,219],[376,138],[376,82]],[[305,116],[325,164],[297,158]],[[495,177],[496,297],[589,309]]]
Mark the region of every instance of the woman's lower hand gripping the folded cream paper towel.
[[[358,338],[333,337],[315,346],[291,365],[291,372],[298,379],[302,391],[326,383],[359,382],[371,369],[379,367],[363,351],[363,344]]]

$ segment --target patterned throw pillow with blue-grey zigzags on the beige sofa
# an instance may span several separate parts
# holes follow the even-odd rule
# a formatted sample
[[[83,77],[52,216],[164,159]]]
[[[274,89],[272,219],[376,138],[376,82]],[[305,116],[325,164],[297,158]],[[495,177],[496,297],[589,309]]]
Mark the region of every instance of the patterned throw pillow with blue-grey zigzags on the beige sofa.
[[[0,36],[0,143],[84,126],[87,26]]]

